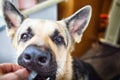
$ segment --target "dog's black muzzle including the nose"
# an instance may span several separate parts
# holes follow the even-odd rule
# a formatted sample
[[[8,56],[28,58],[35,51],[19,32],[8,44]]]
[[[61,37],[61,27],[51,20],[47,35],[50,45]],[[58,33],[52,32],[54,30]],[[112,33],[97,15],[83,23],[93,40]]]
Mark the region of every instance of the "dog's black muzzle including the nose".
[[[28,46],[18,58],[18,64],[29,71],[38,73],[39,78],[47,79],[56,75],[57,63],[55,56],[49,50],[37,46]],[[40,79],[41,80],[41,79]]]

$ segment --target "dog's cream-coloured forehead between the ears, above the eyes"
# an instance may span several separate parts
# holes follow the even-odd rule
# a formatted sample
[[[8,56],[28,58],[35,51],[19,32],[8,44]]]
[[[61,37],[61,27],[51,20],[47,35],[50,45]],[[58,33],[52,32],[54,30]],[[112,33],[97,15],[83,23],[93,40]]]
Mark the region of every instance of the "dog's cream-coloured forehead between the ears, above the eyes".
[[[31,28],[36,34],[52,34],[56,29],[61,31],[61,25],[57,21],[41,20],[41,19],[26,19],[21,24],[19,31],[26,31]],[[19,32],[18,31],[18,32]]]

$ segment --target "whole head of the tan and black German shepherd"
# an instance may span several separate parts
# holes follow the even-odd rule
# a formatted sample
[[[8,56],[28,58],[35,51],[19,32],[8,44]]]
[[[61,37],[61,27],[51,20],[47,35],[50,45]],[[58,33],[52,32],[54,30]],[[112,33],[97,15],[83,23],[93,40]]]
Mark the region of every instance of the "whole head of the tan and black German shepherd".
[[[80,42],[90,21],[90,6],[61,21],[50,21],[25,18],[5,0],[3,13],[8,34],[20,53],[20,65],[36,71],[43,78],[62,77],[67,69],[70,71],[70,53],[74,43]]]

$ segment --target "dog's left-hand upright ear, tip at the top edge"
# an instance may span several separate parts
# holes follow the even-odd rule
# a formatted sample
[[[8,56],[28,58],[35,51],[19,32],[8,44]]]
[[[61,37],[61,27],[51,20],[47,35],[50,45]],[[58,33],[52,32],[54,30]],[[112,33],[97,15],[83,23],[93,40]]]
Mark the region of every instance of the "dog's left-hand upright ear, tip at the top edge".
[[[24,20],[24,16],[8,0],[3,1],[3,16],[7,23],[9,35],[12,37]]]

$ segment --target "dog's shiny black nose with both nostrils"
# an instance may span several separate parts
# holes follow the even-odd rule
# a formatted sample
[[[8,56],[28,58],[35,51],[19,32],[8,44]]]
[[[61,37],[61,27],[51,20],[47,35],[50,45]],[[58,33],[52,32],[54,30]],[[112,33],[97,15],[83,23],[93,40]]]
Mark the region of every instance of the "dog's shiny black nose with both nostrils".
[[[42,51],[36,46],[29,46],[23,52],[23,61],[25,64],[30,66],[34,64],[35,66],[47,66],[50,62],[50,53],[48,51]]]

